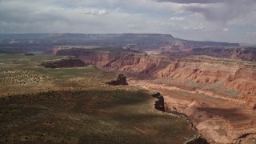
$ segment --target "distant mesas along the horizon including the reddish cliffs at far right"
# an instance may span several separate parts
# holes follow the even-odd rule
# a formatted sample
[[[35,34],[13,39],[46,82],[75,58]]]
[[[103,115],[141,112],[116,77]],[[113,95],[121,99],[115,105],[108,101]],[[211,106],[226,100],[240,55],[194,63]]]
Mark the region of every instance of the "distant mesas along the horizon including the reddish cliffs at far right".
[[[0,53],[52,54],[63,47],[125,48],[171,58],[207,55],[256,61],[255,46],[239,43],[189,41],[171,34],[0,34]]]

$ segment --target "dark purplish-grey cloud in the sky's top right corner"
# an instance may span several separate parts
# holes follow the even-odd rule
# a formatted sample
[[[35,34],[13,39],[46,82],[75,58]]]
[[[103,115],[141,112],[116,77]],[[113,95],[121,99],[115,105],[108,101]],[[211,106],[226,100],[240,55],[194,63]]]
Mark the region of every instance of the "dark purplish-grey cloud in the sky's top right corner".
[[[184,4],[182,10],[202,14],[210,22],[226,23],[237,18],[254,15],[255,0],[157,0]],[[199,4],[199,5],[196,5]]]

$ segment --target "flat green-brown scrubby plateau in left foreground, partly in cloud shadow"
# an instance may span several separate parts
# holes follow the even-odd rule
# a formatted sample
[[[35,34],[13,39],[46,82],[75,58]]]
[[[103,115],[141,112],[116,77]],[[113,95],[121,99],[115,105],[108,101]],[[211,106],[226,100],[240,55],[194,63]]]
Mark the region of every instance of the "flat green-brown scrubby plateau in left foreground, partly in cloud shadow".
[[[94,66],[46,69],[65,57],[2,54],[0,143],[183,143],[195,131],[154,98]]]

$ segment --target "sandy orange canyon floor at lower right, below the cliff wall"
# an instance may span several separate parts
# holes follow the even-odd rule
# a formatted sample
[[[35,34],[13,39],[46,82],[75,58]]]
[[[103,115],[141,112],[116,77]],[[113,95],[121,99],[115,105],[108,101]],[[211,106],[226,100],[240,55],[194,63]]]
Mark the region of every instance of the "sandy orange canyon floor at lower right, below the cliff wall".
[[[183,90],[130,78],[130,85],[164,95],[167,112],[186,114],[210,143],[256,143],[256,112],[242,108],[245,102],[210,91]]]

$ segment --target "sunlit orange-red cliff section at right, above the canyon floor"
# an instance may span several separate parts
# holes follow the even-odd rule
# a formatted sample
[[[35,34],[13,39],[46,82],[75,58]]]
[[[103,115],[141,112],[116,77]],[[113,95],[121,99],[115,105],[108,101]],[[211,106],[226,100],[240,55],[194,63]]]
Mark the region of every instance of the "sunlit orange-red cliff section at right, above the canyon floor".
[[[238,62],[183,59],[172,62],[158,77],[172,78],[192,89],[203,88],[214,94],[246,101],[243,106],[254,109],[256,104],[256,66]]]

